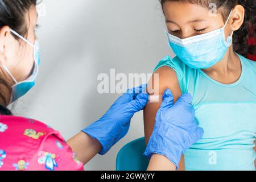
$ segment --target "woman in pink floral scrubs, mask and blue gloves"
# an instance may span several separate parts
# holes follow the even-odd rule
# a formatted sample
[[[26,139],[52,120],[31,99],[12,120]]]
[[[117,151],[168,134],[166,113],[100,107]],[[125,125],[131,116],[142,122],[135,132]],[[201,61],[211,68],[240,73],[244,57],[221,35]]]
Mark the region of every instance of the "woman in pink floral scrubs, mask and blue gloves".
[[[39,46],[36,0],[0,0],[0,170],[83,170],[95,155],[106,154],[125,137],[131,118],[148,102],[146,85],[127,90],[97,122],[67,142],[42,122],[15,117],[7,106],[35,85]],[[145,155],[148,170],[175,170],[181,154],[202,135],[191,96],[176,102],[170,90],[156,115]]]

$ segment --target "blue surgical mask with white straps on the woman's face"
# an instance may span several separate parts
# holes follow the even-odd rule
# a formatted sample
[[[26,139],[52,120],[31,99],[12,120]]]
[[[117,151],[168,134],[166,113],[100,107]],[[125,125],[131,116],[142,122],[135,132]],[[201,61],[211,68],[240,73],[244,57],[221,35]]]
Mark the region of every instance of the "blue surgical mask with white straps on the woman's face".
[[[18,82],[14,78],[14,76],[11,74],[9,69],[5,65],[3,65],[3,68],[5,69],[5,71],[10,75],[10,77],[15,82],[15,85],[12,86],[13,92],[11,94],[11,100],[10,100],[9,104],[13,103],[14,101],[18,100],[20,97],[24,96],[35,85],[35,80],[36,80],[36,77],[38,76],[39,65],[40,65],[38,40],[35,41],[35,44],[32,44],[31,42],[29,42],[27,39],[23,38],[23,36],[19,35],[14,30],[11,30],[11,32],[34,48],[34,67],[31,72],[30,77],[28,77],[24,81]]]

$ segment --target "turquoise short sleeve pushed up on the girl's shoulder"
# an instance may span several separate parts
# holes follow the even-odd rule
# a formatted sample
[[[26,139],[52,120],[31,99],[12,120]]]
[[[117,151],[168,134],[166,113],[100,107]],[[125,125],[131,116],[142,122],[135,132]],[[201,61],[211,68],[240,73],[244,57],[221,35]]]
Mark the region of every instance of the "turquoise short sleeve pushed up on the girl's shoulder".
[[[179,85],[180,85],[180,89],[181,92],[184,93],[185,92],[185,69],[186,69],[186,65],[178,58],[178,57],[174,57],[174,59],[172,59],[170,56],[166,56],[164,57],[164,59],[162,59],[158,65],[155,67],[154,72],[161,68],[161,67],[170,67],[172,69],[174,69],[174,71],[176,72],[177,75],[177,79],[179,81]]]

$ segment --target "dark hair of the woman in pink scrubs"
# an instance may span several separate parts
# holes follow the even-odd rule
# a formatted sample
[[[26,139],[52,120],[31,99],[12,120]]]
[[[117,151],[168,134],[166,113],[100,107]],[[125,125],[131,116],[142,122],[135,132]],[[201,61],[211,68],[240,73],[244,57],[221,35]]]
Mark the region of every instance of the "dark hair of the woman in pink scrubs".
[[[18,34],[26,36],[28,27],[25,14],[32,5],[36,5],[36,0],[0,0],[0,29],[3,26],[9,26]],[[14,38],[19,39],[17,36]],[[11,92],[11,85],[5,75],[0,75],[0,114],[2,115],[12,115],[6,107],[9,104]]]

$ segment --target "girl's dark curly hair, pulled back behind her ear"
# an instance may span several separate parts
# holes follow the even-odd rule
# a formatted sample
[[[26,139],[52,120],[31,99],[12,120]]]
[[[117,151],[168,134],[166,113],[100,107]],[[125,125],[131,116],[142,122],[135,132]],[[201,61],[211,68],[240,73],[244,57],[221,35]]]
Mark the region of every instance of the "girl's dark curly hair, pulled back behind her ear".
[[[215,3],[217,11],[220,13],[224,22],[228,19],[230,11],[237,5],[242,5],[245,9],[245,20],[241,28],[234,32],[233,45],[234,51],[244,57],[255,55],[255,44],[249,45],[249,38],[255,40],[255,20],[256,20],[256,3],[255,0],[160,0],[163,6],[167,1],[188,2],[203,6],[210,10],[210,3]]]

